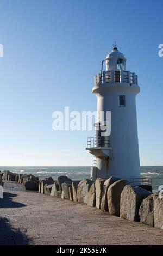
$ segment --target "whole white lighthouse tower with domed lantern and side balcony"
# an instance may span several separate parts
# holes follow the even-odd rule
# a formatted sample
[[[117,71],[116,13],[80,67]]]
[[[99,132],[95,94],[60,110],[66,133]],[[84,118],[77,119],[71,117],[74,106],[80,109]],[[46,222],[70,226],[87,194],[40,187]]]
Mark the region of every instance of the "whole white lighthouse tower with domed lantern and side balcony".
[[[106,69],[103,71],[103,63]],[[97,96],[97,112],[111,112],[110,136],[87,138],[87,150],[95,156],[92,180],[116,176],[123,179],[140,178],[139,144],[135,97],[140,92],[137,75],[126,70],[126,58],[114,44],[102,62],[101,73],[95,76],[93,94]],[[101,124],[101,116],[95,126]]]

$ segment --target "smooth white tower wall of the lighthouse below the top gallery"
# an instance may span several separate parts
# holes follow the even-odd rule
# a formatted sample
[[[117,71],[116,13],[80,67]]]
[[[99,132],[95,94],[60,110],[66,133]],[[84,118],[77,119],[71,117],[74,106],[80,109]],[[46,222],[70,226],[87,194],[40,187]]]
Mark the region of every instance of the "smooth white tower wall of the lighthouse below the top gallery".
[[[93,88],[97,111],[111,111],[112,160],[97,159],[98,177],[140,178],[135,102],[139,92],[139,86],[129,83],[104,83]],[[126,106],[119,106],[119,95],[126,96]]]

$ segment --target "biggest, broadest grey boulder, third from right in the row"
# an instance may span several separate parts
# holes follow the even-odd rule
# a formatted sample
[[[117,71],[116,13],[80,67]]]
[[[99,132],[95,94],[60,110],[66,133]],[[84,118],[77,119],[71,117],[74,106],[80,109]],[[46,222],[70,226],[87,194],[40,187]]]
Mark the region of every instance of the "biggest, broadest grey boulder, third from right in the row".
[[[126,185],[121,193],[120,217],[129,221],[139,221],[139,208],[143,199],[151,192],[141,187]]]

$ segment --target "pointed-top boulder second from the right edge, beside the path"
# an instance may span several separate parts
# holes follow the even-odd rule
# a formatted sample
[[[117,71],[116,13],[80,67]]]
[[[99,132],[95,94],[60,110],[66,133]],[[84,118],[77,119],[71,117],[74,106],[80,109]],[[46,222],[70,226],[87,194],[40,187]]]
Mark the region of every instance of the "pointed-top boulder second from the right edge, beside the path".
[[[153,197],[154,194],[151,194],[143,199],[139,209],[140,222],[151,227],[154,227]]]

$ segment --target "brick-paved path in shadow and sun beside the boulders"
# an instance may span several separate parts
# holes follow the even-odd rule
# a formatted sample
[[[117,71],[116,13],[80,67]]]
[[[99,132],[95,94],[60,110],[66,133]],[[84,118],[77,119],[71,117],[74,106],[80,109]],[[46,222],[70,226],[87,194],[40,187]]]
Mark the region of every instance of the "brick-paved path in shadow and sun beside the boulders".
[[[0,245],[162,245],[163,231],[4,181]]]

